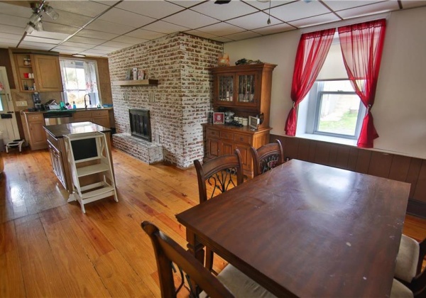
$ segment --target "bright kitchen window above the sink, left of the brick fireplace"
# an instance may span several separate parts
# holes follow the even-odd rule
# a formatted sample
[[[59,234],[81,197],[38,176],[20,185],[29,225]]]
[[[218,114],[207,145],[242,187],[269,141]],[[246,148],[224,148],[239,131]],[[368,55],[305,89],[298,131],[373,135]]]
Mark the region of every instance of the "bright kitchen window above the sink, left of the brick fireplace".
[[[95,61],[60,59],[60,72],[65,102],[75,104],[77,108],[102,104],[97,88]]]

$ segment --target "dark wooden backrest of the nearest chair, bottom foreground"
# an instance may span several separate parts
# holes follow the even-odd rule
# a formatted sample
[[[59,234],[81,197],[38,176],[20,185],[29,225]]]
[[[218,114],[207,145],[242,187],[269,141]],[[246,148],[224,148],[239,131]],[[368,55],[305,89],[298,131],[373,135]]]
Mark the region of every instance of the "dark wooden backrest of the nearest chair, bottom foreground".
[[[172,238],[161,232],[153,223],[143,221],[143,231],[151,238],[155,259],[157,260],[158,277],[160,278],[161,297],[176,297],[173,280],[172,262],[189,275],[209,297],[234,297],[219,280],[207,270],[193,255],[183,249]]]

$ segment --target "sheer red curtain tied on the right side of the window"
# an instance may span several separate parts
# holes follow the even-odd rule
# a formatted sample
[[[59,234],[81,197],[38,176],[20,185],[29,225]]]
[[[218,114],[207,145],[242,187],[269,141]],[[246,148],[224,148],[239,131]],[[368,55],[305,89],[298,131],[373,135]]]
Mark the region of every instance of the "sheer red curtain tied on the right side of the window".
[[[378,138],[373,124],[371,107],[376,95],[385,31],[386,20],[384,18],[339,28],[340,46],[346,72],[356,94],[367,108],[357,143],[361,148],[373,148],[373,140]]]

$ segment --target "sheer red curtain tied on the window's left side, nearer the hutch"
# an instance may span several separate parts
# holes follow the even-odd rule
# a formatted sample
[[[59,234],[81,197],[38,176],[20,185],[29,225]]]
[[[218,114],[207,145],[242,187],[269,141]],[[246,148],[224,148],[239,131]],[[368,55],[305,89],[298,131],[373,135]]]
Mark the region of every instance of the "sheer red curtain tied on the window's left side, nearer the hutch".
[[[295,136],[297,125],[297,106],[310,91],[315,83],[318,73],[324,64],[325,57],[332,45],[335,28],[300,36],[297,47],[295,70],[293,72],[293,83],[291,85],[291,100],[293,108],[288,113],[285,122],[285,134]]]

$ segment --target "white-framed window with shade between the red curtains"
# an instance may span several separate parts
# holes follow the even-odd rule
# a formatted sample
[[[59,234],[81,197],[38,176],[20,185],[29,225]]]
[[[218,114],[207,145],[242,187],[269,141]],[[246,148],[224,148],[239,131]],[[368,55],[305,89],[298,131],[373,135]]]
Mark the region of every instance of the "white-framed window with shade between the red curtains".
[[[347,77],[338,35],[334,39],[317,81],[299,104],[296,136],[359,138],[366,108]]]

